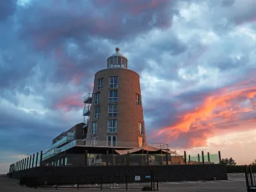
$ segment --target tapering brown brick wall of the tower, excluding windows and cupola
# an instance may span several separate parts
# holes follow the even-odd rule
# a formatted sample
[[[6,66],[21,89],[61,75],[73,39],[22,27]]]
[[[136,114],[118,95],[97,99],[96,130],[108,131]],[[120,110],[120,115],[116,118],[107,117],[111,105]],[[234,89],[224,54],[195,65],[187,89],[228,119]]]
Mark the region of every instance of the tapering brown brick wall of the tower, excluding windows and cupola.
[[[110,76],[118,76],[118,88],[109,88]],[[103,88],[101,90],[97,90],[97,79],[99,78],[104,78]],[[118,102],[108,102],[109,90],[118,90]],[[133,142],[138,143],[138,136],[141,136],[138,122],[142,122],[144,124],[142,105],[136,105],[136,93],[141,95],[140,76],[136,72],[125,68],[106,68],[104,70],[100,70],[95,74],[93,97],[95,92],[98,91],[100,91],[100,103],[96,105],[92,104],[87,140],[90,142],[92,136],[98,136],[98,141],[106,141],[108,135],[116,135],[117,141],[124,142],[122,143],[124,145],[125,143],[127,143],[127,145],[128,143]],[[92,103],[93,102],[94,98],[92,99]],[[118,104],[117,117],[108,117],[109,104]],[[100,106],[100,118],[95,119],[97,120],[97,131],[95,135],[92,135],[90,134],[90,128],[92,121],[95,121],[93,120],[95,106]],[[108,119],[118,120],[116,133],[107,132]],[[145,134],[143,137],[146,142]]]

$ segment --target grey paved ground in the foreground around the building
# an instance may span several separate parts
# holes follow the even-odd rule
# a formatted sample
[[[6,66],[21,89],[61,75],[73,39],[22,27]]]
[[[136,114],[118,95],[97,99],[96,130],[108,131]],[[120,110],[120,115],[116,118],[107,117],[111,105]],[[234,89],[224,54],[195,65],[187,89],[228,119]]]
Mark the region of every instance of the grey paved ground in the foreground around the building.
[[[57,191],[74,191],[77,189],[58,189]],[[56,189],[30,189],[21,187],[17,180],[0,177],[0,191],[1,192],[51,192]],[[100,191],[98,189],[79,189],[79,191]],[[106,191],[107,190],[103,190]],[[111,190],[119,191],[119,190]],[[120,190],[120,191],[124,191]],[[129,190],[130,191],[130,190]],[[139,190],[137,190],[139,191]],[[159,191],[209,191],[209,192],[246,192],[246,184],[244,173],[228,174],[228,180],[212,180],[212,181],[191,181],[191,182],[164,182],[159,183]]]

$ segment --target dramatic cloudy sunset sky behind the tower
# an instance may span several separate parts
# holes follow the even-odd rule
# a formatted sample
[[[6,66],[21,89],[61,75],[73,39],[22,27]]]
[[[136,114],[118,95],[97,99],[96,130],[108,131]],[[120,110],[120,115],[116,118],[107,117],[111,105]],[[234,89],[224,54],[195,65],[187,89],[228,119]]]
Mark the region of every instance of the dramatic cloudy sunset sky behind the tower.
[[[83,96],[115,47],[140,74],[148,142],[252,163],[255,7],[255,0],[1,0],[0,173],[83,121]]]

